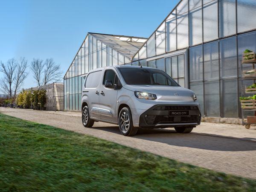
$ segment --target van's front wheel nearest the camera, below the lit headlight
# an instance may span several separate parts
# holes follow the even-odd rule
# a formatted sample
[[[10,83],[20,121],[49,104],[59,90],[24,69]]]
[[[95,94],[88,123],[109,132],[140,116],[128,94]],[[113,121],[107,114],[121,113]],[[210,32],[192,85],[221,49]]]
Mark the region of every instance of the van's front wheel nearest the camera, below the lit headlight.
[[[118,117],[119,130],[124,136],[134,136],[138,128],[133,126],[131,110],[127,107],[122,108]]]

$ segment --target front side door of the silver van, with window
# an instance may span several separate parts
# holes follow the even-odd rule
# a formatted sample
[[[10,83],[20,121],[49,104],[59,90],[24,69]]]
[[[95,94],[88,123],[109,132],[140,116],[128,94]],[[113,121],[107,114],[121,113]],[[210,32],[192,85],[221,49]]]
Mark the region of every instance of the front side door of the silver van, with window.
[[[120,81],[114,70],[105,70],[104,73],[99,94],[99,116],[100,119],[118,122],[116,97],[120,87]],[[116,89],[114,84],[117,84]]]

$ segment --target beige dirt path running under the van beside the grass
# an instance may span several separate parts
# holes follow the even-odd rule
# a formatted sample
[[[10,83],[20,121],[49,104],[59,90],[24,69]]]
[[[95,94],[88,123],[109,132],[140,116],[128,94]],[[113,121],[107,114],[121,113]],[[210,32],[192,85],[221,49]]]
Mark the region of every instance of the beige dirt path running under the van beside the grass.
[[[96,122],[93,128],[84,128],[79,113],[72,115],[67,112],[8,108],[0,108],[0,113],[89,134],[215,171],[256,179],[255,128],[247,130],[241,125],[202,123],[191,134],[177,134],[169,128],[140,130],[134,137],[124,137],[116,125]]]

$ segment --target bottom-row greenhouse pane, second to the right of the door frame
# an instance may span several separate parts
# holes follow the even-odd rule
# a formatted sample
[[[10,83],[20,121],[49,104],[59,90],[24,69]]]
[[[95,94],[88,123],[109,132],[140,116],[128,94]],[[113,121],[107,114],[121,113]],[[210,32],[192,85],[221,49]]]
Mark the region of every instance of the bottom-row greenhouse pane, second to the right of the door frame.
[[[206,116],[220,116],[219,94],[219,81],[205,81],[204,99]]]

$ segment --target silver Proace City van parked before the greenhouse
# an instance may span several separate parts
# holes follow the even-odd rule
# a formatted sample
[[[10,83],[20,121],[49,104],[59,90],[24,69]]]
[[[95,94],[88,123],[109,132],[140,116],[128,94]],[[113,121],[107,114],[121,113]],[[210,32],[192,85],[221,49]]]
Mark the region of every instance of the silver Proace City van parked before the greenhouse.
[[[192,90],[180,87],[165,72],[151,67],[110,66],[91,70],[82,86],[82,123],[119,125],[125,136],[138,128],[175,128],[190,133],[201,123]]]

